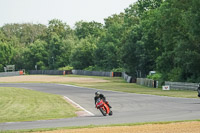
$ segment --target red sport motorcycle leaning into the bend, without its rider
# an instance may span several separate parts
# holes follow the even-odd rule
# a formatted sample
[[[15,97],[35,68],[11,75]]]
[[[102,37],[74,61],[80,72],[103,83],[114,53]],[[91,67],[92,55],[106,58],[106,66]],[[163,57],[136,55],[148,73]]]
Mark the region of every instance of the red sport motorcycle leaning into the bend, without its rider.
[[[104,116],[113,114],[109,106],[100,98],[97,99],[96,108],[99,109]]]

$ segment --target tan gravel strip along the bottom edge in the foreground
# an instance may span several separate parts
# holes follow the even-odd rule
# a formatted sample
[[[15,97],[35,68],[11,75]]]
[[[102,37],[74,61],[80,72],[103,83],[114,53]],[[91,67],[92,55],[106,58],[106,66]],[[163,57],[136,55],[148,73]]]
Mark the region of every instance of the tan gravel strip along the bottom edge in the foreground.
[[[199,133],[200,122],[55,130],[38,133]]]

